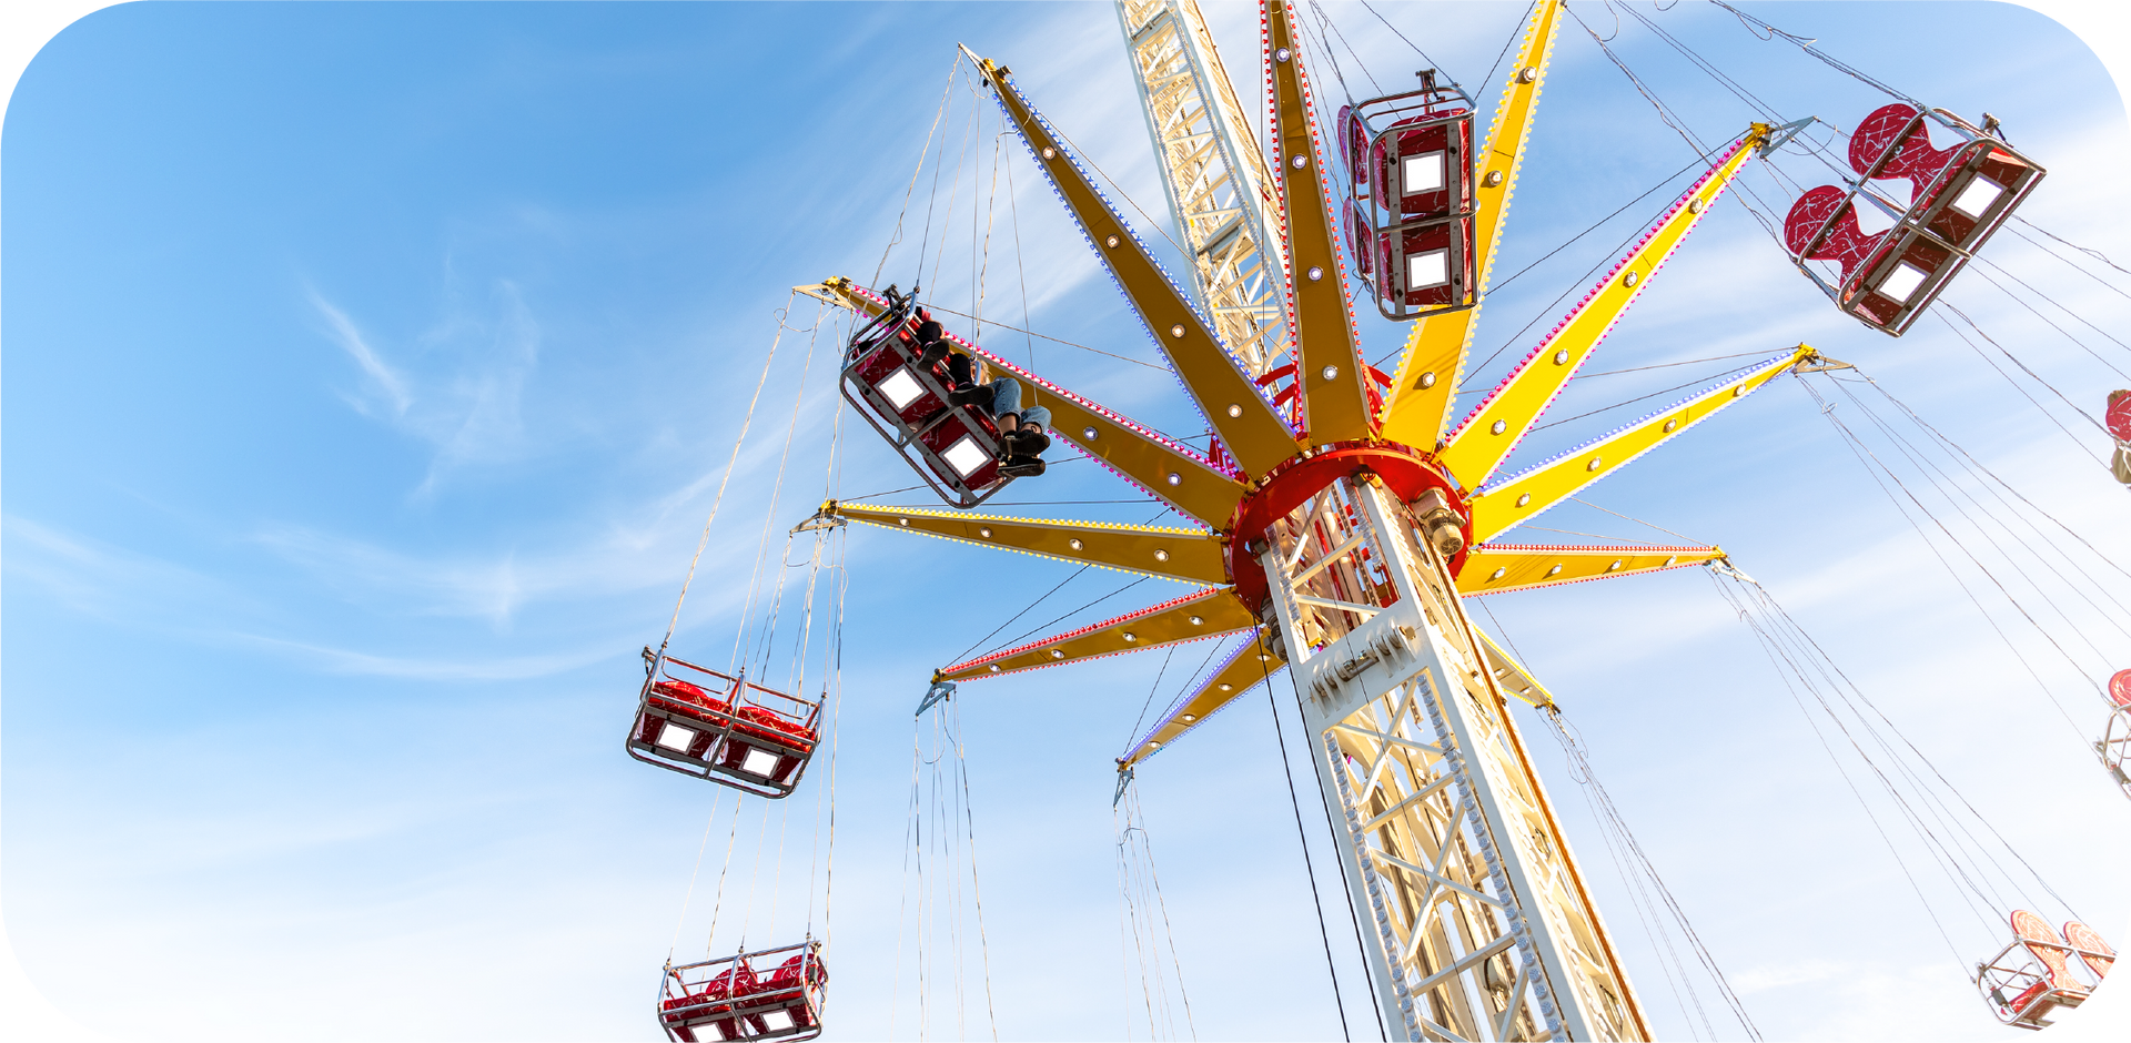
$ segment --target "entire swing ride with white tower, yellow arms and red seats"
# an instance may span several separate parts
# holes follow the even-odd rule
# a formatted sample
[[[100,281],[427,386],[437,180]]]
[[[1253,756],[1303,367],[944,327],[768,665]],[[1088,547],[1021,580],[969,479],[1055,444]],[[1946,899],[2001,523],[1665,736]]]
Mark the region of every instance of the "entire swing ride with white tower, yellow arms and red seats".
[[[1551,334],[1455,417],[1453,392],[1470,364],[1564,6],[1534,4],[1479,138],[1475,100],[1434,72],[1419,89],[1328,113],[1304,70],[1296,13],[1287,0],[1264,0],[1264,151],[1195,0],[1117,6],[1191,260],[1189,287],[1161,268],[1012,72],[965,57],[1183,381],[1213,434],[1208,451],[982,345],[944,341],[1016,381],[1023,402],[1048,409],[1059,441],[1193,526],[970,513],[1016,481],[999,473],[999,417],[957,396],[944,351],[927,351],[921,336],[931,313],[916,294],[842,277],[799,292],[857,315],[844,396],[950,509],[829,500],[810,524],[948,536],[1195,583],[1174,600],[944,666],[929,698],[974,679],[1242,639],[1119,771],[1129,777],[1287,668],[1392,1034],[1647,1043],[1652,1020],[1511,715],[1511,700],[1551,711],[1551,696],[1473,624],[1464,598],[1724,562],[1713,545],[1507,536],[1779,375],[1848,364],[1799,345],[1526,470],[1502,475],[1502,462],[1739,172],[1803,121],[1754,123],[1715,149]],[[1995,121],[1978,128],[1907,100],[1865,117],[1848,160],[1845,185],[1796,198],[1782,241],[1841,311],[1890,336],[1931,307],[2044,177]],[[1860,204],[1882,211],[1886,230],[1860,232]],[[1355,285],[1385,319],[1411,321],[1394,375],[1357,351]],[[631,756],[767,798],[801,783],[820,741],[818,702],[665,647],[646,658]],[[2131,673],[2114,679],[2112,696],[2097,749],[2131,796]],[[2084,924],[2059,934],[2014,911],[2012,928],[2014,941],[1975,971],[2007,1024],[2054,1024],[2114,968],[2114,949]],[[823,1030],[825,981],[812,939],[669,964],[658,1017],[682,1043],[812,1039]]]

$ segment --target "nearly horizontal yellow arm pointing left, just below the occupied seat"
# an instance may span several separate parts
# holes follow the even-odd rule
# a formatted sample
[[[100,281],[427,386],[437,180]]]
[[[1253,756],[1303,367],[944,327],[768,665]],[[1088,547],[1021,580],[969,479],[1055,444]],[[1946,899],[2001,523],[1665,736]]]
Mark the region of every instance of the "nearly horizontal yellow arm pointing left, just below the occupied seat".
[[[1036,553],[1061,562],[1100,564],[1185,583],[1227,583],[1221,536],[1195,528],[1112,526],[1106,522],[1042,522],[921,507],[876,507],[829,500],[823,517],[846,517],[899,532]]]

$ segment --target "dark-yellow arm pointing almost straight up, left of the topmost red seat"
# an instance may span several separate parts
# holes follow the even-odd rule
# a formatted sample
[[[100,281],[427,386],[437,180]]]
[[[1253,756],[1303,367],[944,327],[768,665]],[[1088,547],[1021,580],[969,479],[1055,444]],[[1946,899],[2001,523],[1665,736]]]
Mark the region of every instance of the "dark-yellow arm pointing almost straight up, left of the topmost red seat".
[[[1362,441],[1374,436],[1377,417],[1368,415],[1362,390],[1364,372],[1347,302],[1347,268],[1338,255],[1338,226],[1325,202],[1330,192],[1323,179],[1323,151],[1317,123],[1311,119],[1302,43],[1296,40],[1287,0],[1266,0],[1266,38],[1272,143],[1279,149],[1272,160],[1287,238],[1296,383],[1302,387],[1304,428],[1311,445]]]

